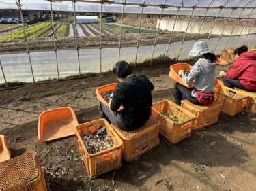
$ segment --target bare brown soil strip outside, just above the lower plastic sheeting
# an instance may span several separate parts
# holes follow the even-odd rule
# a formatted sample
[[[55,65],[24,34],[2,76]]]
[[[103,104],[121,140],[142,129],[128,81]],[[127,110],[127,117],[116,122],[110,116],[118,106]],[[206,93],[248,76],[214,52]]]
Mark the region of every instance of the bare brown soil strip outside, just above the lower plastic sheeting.
[[[169,43],[171,33],[159,33],[156,44]],[[174,32],[172,42],[182,41],[184,33]],[[185,40],[195,39],[197,34],[187,33]],[[139,46],[154,44],[156,34],[141,34],[139,39]],[[207,38],[207,34],[199,35],[199,39]],[[211,35],[216,37],[216,35]],[[122,46],[135,46],[137,45],[137,34],[122,34]],[[79,48],[92,48],[100,46],[100,37],[78,37]],[[45,37],[38,39],[28,40],[29,50],[54,50],[53,38]],[[72,38],[59,38],[56,41],[57,50],[76,48],[75,37]],[[119,35],[104,35],[102,36],[102,47],[117,47],[119,46]],[[19,51],[26,51],[27,47],[25,41],[5,41],[0,44],[1,53],[12,53]]]

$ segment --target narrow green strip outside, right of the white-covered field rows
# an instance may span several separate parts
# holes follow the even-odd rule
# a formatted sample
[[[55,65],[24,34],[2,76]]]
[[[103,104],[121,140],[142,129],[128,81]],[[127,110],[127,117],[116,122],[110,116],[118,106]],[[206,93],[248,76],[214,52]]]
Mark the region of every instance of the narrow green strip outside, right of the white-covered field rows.
[[[113,30],[113,31],[120,31],[120,25],[117,25],[117,24],[102,24],[104,25],[104,27],[107,27],[109,28],[110,30]],[[156,29],[143,29],[141,28],[140,30],[140,33],[156,33]],[[123,25],[122,27],[122,32],[124,33],[139,33],[139,28],[137,27],[131,27],[131,26],[128,26],[128,25]],[[162,30],[158,30],[158,32],[165,32],[165,31],[162,31]]]

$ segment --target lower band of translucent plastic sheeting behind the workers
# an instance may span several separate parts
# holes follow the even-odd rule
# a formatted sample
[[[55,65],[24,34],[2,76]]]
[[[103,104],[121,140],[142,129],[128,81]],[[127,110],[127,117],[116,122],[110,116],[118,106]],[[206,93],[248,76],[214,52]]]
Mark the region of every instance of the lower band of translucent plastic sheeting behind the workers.
[[[245,44],[250,45],[250,48],[254,48],[256,44],[255,35],[240,36],[238,43],[233,44],[238,36],[233,37],[221,37],[218,44],[216,44],[217,38],[208,40],[208,46],[214,50],[215,54],[220,54],[223,50],[227,40],[227,49],[234,48],[234,46],[241,46],[243,41]],[[200,39],[199,41],[206,41],[206,39]],[[180,48],[182,46],[180,59],[187,59],[189,56],[186,52],[189,52],[192,48],[194,40],[182,42],[173,42],[170,44],[169,52],[167,56],[169,58],[177,58]],[[167,53],[169,44],[157,44],[153,58],[158,58],[160,55]],[[139,46],[137,54],[137,63],[143,63],[143,61],[150,61],[152,58],[152,50],[154,46]],[[113,69],[113,65],[118,61],[119,48],[102,48],[102,71],[109,71]],[[122,47],[120,60],[126,60],[129,63],[134,63],[136,54],[136,47]],[[79,67],[76,50],[58,50],[57,56],[59,60],[59,75],[60,77],[66,77],[70,75],[79,75]],[[98,48],[91,49],[79,49],[81,73],[98,73],[100,72],[100,50]],[[7,82],[33,82],[31,75],[31,67],[29,65],[29,57],[27,53],[18,54],[0,54],[0,60],[3,65],[5,77]],[[35,81],[46,80],[51,78],[57,78],[57,66],[55,60],[55,53],[53,51],[48,52],[31,52],[31,63],[33,67],[33,73]],[[4,83],[3,75],[0,73],[0,82]]]

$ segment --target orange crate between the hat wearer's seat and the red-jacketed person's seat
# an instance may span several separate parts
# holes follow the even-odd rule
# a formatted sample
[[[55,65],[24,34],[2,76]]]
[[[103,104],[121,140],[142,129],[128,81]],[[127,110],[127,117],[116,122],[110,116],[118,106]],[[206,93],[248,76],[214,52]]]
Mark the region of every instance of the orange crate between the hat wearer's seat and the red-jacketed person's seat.
[[[223,103],[221,111],[229,116],[235,116],[243,111],[248,96],[226,86],[214,86],[214,97]]]

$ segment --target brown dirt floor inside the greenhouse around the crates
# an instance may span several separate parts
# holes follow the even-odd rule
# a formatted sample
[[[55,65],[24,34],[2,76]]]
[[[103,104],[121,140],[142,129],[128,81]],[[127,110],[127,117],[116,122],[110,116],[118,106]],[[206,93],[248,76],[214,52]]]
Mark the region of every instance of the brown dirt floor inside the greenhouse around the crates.
[[[218,66],[218,73],[227,67]],[[139,67],[154,84],[154,101],[170,99],[169,65]],[[42,111],[72,107],[79,123],[100,118],[95,90],[117,82],[112,73],[45,82],[0,91],[0,134],[12,157],[34,150],[40,156],[48,190],[256,190],[256,117],[220,114],[218,123],[173,145],[160,144],[122,167],[89,179],[75,137],[38,142]]]

